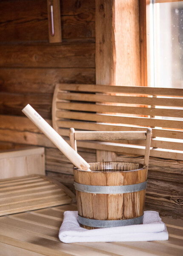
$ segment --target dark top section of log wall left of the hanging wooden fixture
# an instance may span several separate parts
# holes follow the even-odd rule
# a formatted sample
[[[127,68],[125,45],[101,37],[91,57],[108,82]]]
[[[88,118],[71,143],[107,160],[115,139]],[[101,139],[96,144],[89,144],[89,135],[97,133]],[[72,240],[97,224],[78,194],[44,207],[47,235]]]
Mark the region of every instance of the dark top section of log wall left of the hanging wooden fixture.
[[[0,10],[1,42],[48,41],[47,6],[44,0],[1,1]]]

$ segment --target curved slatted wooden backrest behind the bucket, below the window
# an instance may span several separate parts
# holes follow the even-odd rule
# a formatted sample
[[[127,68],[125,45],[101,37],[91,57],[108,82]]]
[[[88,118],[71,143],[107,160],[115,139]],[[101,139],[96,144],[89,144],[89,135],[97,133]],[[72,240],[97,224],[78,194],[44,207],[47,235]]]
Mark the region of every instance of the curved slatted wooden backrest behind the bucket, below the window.
[[[183,90],[89,84],[59,84],[55,88],[54,129],[145,131],[152,127],[150,156],[183,160]],[[144,155],[143,140],[77,143],[80,147]]]

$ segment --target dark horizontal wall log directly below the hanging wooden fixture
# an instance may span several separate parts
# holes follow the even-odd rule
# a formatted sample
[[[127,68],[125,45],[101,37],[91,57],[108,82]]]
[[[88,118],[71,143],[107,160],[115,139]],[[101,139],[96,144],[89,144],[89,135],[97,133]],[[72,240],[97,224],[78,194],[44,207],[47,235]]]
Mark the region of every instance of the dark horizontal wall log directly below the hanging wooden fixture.
[[[94,43],[0,45],[0,67],[94,68]]]

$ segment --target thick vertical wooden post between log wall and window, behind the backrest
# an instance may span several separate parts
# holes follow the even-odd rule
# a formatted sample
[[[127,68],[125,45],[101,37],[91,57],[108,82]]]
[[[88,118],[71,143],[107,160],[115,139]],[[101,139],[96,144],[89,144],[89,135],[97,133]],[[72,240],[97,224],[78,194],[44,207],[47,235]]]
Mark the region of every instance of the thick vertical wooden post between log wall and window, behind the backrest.
[[[139,3],[96,0],[96,84],[140,86]],[[97,161],[115,153],[97,150]]]

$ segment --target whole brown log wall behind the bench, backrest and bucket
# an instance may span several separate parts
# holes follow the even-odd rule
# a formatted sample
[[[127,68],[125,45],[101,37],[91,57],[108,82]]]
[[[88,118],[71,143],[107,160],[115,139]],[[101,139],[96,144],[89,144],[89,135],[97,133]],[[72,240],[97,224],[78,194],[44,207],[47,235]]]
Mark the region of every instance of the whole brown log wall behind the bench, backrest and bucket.
[[[73,189],[72,164],[21,112],[29,103],[51,124],[58,82],[95,84],[95,1],[61,0],[60,9],[62,43],[49,44],[46,0],[0,1],[0,150],[44,146],[47,175]],[[96,161],[95,150],[78,151]],[[182,169],[182,161],[150,158],[147,209],[181,218]]]

